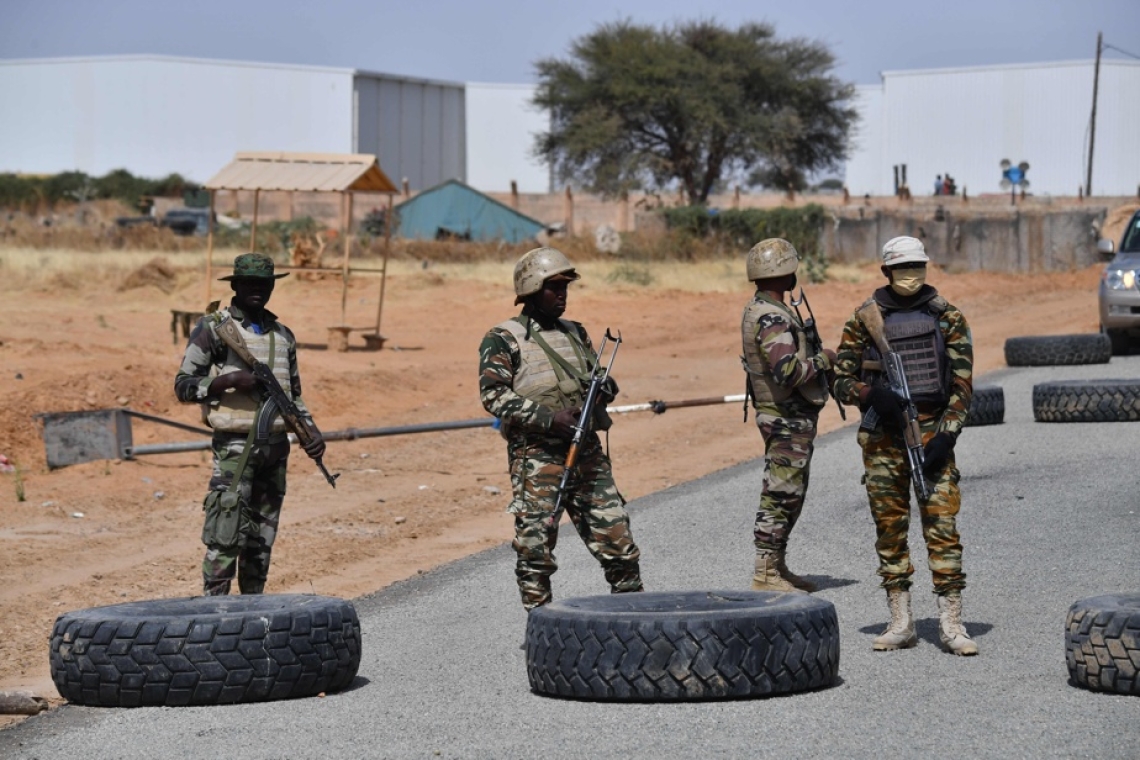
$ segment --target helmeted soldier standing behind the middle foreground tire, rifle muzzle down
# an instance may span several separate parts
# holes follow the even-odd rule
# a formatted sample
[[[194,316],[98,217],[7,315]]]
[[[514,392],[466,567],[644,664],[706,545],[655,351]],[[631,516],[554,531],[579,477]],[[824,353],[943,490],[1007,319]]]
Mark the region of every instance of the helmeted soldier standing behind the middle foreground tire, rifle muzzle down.
[[[551,600],[551,575],[557,570],[554,504],[598,361],[585,328],[561,318],[567,286],[578,277],[560,251],[526,253],[514,267],[515,303],[522,304],[522,313],[492,327],[479,346],[479,395],[483,408],[499,418],[507,441],[513,496],[507,512],[514,515],[515,577],[528,611]],[[617,385],[611,384],[608,400],[614,393]],[[604,404],[597,407],[563,504],[586,548],[602,564],[610,590],[641,591],[641,551],[595,432],[608,430],[609,423]]]

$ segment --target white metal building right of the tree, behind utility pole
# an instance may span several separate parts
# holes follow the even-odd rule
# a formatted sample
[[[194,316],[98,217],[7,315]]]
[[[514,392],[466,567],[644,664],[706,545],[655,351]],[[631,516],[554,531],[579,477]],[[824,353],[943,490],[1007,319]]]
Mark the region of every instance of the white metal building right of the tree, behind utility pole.
[[[883,72],[860,87],[847,162],[853,195],[890,195],[906,164],[914,195],[950,174],[972,196],[1002,193],[1000,162],[1029,163],[1028,191],[1076,195],[1085,183],[1093,62]],[[1140,185],[1140,62],[1101,60],[1092,193]]]

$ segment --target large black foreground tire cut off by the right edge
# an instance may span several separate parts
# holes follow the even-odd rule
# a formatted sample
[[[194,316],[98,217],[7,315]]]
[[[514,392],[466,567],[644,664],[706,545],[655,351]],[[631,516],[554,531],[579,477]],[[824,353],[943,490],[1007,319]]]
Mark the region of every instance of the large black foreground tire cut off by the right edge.
[[[1074,602],[1065,620],[1065,661],[1077,686],[1140,695],[1140,594]]]

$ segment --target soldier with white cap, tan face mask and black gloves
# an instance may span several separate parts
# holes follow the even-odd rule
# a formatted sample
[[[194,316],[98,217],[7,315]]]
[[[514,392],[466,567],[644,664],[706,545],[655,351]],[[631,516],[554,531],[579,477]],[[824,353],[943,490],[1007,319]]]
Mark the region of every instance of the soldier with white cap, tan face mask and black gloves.
[[[962,312],[926,285],[929,260],[922,242],[913,237],[896,237],[882,247],[882,273],[889,285],[877,289],[844,327],[834,392],[864,414],[874,409],[881,420],[876,430],[858,432],[878,533],[879,575],[890,610],[890,623],[873,648],[902,649],[918,643],[910,594],[914,567],[906,546],[911,472],[904,414],[899,398],[886,385],[882,357],[868,327],[881,324],[882,337],[902,359],[922,433],[922,474],[933,484],[930,498],[918,508],[938,599],[939,637],[947,651],[971,655],[978,647],[962,624],[966,573],[955,524],[961,493],[954,442],[974,394],[974,346]]]

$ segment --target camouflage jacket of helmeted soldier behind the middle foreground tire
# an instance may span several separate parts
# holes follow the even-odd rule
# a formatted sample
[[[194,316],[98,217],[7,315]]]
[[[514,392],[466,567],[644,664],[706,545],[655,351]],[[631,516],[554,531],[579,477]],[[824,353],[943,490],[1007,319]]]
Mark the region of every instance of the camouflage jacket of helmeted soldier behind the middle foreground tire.
[[[538,325],[538,322],[534,322]],[[586,328],[579,322],[561,320],[577,333],[589,357],[594,346]],[[556,329],[544,327],[544,329]],[[510,330],[495,326],[479,344],[479,399],[483,409],[502,420],[506,431],[545,434],[551,430],[556,409],[527,399],[515,392],[515,373],[521,366],[519,343]]]

